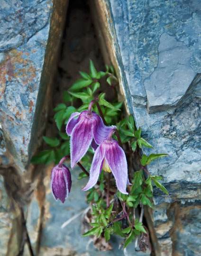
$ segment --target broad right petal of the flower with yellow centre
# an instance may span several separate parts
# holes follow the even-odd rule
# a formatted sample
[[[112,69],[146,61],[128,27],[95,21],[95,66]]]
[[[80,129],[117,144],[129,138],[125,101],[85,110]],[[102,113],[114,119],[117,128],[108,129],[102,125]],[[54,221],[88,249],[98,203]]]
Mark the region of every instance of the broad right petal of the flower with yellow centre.
[[[104,144],[107,144],[105,159],[115,177],[117,187],[121,193],[128,194],[128,192],[126,192],[128,181],[126,155],[116,140],[112,140],[112,143],[104,142]]]

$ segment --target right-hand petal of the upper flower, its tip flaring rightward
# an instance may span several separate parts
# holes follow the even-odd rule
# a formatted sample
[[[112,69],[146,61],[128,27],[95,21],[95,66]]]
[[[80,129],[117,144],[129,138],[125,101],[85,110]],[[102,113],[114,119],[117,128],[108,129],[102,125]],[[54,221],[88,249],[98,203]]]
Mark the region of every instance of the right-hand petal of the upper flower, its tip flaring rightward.
[[[97,118],[99,119],[99,124],[92,127],[92,133],[96,144],[100,145],[102,141],[108,137],[110,131],[116,128],[116,126],[105,126],[100,116]]]

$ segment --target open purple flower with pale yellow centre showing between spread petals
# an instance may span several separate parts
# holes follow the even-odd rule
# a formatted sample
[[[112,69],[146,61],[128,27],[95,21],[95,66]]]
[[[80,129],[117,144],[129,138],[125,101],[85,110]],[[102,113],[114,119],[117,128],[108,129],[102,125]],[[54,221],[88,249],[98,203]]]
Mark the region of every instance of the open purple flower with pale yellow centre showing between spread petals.
[[[113,174],[118,190],[123,194],[128,194],[126,192],[126,186],[129,183],[126,155],[119,143],[111,138],[113,132],[114,129],[96,149],[91,164],[90,179],[82,191],[91,189],[97,183],[103,169]]]

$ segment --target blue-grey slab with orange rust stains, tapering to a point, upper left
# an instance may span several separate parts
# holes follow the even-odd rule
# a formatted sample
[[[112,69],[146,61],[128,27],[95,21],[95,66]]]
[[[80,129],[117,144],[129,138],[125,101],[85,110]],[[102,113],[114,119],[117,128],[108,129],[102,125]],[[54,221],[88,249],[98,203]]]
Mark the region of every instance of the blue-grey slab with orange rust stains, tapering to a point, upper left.
[[[5,147],[22,170],[27,169],[45,125],[44,97],[50,92],[67,2],[1,3],[0,128]],[[38,127],[41,117],[43,125]]]

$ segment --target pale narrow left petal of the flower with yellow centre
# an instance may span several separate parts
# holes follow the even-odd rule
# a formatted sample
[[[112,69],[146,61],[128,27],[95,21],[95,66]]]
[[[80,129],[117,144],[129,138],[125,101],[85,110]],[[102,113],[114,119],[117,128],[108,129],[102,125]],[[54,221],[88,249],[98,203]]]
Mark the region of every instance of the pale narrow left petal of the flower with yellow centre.
[[[102,169],[104,155],[105,155],[105,149],[102,148],[100,145],[96,149],[95,154],[93,156],[93,161],[92,161],[91,169],[90,169],[89,181],[86,184],[86,186],[82,189],[82,191],[91,189],[97,183],[101,169]]]

